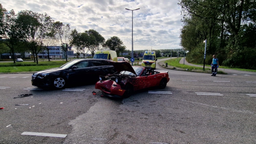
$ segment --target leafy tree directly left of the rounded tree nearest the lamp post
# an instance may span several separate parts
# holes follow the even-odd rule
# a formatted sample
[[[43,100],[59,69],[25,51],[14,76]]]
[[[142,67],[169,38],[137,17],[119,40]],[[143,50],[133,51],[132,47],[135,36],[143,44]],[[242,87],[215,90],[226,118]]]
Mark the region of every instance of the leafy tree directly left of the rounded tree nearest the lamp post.
[[[101,46],[105,42],[105,38],[102,37],[97,31],[93,29],[85,31],[85,33],[87,33],[89,36],[90,41],[89,41],[88,49],[92,53],[92,57],[93,57],[95,51],[101,49]]]

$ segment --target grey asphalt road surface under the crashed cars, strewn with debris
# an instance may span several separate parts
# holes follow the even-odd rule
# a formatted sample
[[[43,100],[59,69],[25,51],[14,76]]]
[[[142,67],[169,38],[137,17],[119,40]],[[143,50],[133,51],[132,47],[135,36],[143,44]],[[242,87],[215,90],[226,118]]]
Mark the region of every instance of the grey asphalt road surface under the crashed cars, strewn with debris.
[[[167,70],[158,65],[157,69]],[[1,74],[0,87],[9,88],[0,89],[0,143],[256,143],[256,97],[247,95],[256,94],[256,77],[210,75],[169,70],[165,89],[111,99],[101,97],[94,85],[71,87],[83,91],[27,90],[33,88],[31,74]],[[13,99],[28,93],[33,95]]]

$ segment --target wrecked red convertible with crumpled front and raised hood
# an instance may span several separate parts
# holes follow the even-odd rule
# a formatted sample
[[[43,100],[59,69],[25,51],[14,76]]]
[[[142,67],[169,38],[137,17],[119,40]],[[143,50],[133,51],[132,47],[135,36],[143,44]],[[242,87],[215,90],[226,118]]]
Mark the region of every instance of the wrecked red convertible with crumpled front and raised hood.
[[[117,72],[100,76],[100,81],[95,85],[105,96],[127,98],[136,90],[154,86],[163,89],[170,80],[168,71],[153,71],[150,68],[131,66],[126,62],[111,63]]]

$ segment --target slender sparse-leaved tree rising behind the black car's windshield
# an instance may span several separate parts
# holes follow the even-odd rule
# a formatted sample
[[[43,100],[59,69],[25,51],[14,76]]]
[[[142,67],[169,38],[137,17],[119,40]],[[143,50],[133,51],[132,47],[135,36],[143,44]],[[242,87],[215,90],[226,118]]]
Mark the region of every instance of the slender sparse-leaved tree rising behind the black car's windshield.
[[[71,29],[70,25],[66,24],[64,25],[62,22],[54,22],[53,26],[56,30],[56,40],[61,45],[63,51],[65,51],[66,54],[66,61],[68,61],[67,58],[67,51],[68,51],[68,46],[72,46],[72,35],[71,35]],[[64,45],[65,44],[65,45]]]

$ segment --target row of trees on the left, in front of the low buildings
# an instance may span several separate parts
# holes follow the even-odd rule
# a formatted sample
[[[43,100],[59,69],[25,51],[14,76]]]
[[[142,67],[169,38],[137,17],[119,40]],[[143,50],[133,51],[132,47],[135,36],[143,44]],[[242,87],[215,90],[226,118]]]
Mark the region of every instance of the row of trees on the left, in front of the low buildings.
[[[54,21],[49,15],[40,14],[28,10],[22,10],[15,14],[14,10],[6,10],[0,4],[0,54],[5,52],[12,54],[15,63],[14,53],[25,51],[31,52],[34,62],[38,64],[37,55],[53,46],[60,45],[66,53],[69,47],[79,55],[90,52],[94,55],[96,50],[110,49],[119,52],[124,51],[126,46],[117,36],[105,41],[105,38],[96,30],[90,29],[78,32],[71,29],[69,24]]]

